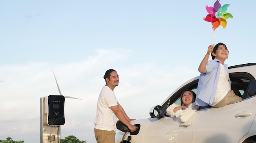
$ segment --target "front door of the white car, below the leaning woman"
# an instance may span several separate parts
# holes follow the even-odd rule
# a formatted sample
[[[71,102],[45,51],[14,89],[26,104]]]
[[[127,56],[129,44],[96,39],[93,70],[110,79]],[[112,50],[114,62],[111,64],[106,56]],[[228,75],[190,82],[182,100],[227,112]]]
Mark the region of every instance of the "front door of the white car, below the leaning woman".
[[[182,121],[177,117],[171,117],[166,113],[166,108],[170,105],[169,103],[180,104],[180,95],[184,89],[196,90],[197,81],[184,86],[179,91],[177,91],[169,100],[162,106],[162,111],[164,116],[161,119],[153,118],[148,126],[146,127],[144,133],[143,143],[191,143],[192,142],[192,131],[193,122],[197,117],[195,113],[189,122],[182,123]]]

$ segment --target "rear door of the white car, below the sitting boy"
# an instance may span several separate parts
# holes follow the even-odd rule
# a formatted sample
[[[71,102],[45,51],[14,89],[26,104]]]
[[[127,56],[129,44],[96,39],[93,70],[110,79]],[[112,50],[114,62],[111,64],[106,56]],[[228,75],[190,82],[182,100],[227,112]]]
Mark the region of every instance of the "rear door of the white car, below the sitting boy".
[[[255,117],[256,98],[220,108],[197,111],[193,143],[238,143],[248,133]]]

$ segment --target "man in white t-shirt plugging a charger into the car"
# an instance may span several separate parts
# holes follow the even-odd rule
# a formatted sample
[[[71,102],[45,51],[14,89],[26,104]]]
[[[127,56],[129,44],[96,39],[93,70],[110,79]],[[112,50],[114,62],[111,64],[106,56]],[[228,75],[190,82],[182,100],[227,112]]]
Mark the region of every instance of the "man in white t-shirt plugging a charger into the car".
[[[119,83],[117,71],[109,69],[106,71],[103,78],[105,79],[106,85],[101,89],[97,102],[94,134],[97,143],[115,143],[115,124],[117,118],[123,122],[131,132],[136,131],[136,127],[130,124],[130,122],[135,119],[130,119],[126,115],[113,91]]]

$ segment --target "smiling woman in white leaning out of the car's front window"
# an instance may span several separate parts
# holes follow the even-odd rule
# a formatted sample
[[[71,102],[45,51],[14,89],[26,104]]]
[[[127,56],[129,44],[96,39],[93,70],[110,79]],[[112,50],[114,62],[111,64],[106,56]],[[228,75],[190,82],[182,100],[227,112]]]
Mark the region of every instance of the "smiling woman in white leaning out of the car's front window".
[[[180,96],[181,105],[171,104],[166,109],[166,112],[172,117],[179,117],[182,122],[188,121],[198,109],[198,106],[195,104],[189,106],[191,103],[195,102],[195,96],[196,94],[193,91],[189,89],[184,90]]]

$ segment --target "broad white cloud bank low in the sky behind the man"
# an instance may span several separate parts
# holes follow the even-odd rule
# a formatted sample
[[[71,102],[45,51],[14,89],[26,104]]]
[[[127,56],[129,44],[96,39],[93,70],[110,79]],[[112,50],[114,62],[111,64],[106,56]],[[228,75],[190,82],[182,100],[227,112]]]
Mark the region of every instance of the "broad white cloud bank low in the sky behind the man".
[[[76,135],[80,140],[94,141],[94,119],[99,92],[105,81],[103,75],[109,68],[117,70],[120,78],[115,93],[126,113],[135,119],[149,117],[149,109],[161,104],[171,92],[191,75],[191,67],[137,63],[122,65],[132,51],[97,50],[97,55],[86,61],[51,65],[27,63],[2,65],[0,71],[0,138],[20,137],[18,140],[40,140],[40,98],[59,95],[54,75],[65,99],[65,125],[62,138]],[[114,66],[113,66],[114,65]],[[52,69],[51,69],[52,68]],[[34,133],[37,133],[34,137]],[[33,137],[31,137],[33,136]]]

